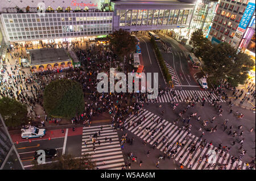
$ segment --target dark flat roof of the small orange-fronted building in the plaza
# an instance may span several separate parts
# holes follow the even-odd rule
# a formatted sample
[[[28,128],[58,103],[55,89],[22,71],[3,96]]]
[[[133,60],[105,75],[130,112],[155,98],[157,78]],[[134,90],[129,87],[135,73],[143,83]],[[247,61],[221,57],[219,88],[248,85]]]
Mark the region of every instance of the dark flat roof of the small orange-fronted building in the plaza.
[[[64,48],[45,48],[27,51],[30,52],[31,65],[71,60]]]

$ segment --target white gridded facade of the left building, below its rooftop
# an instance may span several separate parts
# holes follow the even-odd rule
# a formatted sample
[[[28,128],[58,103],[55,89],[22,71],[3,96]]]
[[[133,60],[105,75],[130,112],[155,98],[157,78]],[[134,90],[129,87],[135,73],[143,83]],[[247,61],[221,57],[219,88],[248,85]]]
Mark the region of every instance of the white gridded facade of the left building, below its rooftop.
[[[2,14],[9,41],[30,41],[112,33],[113,12]]]

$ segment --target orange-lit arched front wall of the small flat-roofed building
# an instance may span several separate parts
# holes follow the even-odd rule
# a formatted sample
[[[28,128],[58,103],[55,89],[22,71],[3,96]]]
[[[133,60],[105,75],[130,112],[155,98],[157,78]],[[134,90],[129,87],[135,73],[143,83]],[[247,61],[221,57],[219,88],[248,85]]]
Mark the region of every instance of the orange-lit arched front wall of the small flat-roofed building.
[[[62,70],[73,68],[72,61],[63,61],[63,62],[52,62],[48,64],[38,64],[38,65],[31,65],[30,69],[32,73],[38,71],[46,71],[46,70]]]

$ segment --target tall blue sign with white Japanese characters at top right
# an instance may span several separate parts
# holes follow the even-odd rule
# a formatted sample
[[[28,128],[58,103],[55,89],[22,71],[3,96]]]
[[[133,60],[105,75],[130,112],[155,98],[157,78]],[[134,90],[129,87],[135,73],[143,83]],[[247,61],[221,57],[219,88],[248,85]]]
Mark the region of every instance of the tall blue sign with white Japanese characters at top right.
[[[246,29],[248,23],[250,22],[251,16],[255,10],[255,3],[249,2],[245,12],[243,13],[242,19],[239,23],[238,30],[242,31],[240,28],[243,29],[242,32]]]

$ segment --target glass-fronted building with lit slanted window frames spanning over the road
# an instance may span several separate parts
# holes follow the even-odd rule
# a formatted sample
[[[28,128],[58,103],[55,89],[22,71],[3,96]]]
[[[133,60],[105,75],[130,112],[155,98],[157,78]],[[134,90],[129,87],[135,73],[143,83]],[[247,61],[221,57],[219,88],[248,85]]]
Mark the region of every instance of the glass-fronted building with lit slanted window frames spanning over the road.
[[[192,3],[181,1],[114,1],[114,30],[126,31],[162,30],[188,27],[191,21]]]

